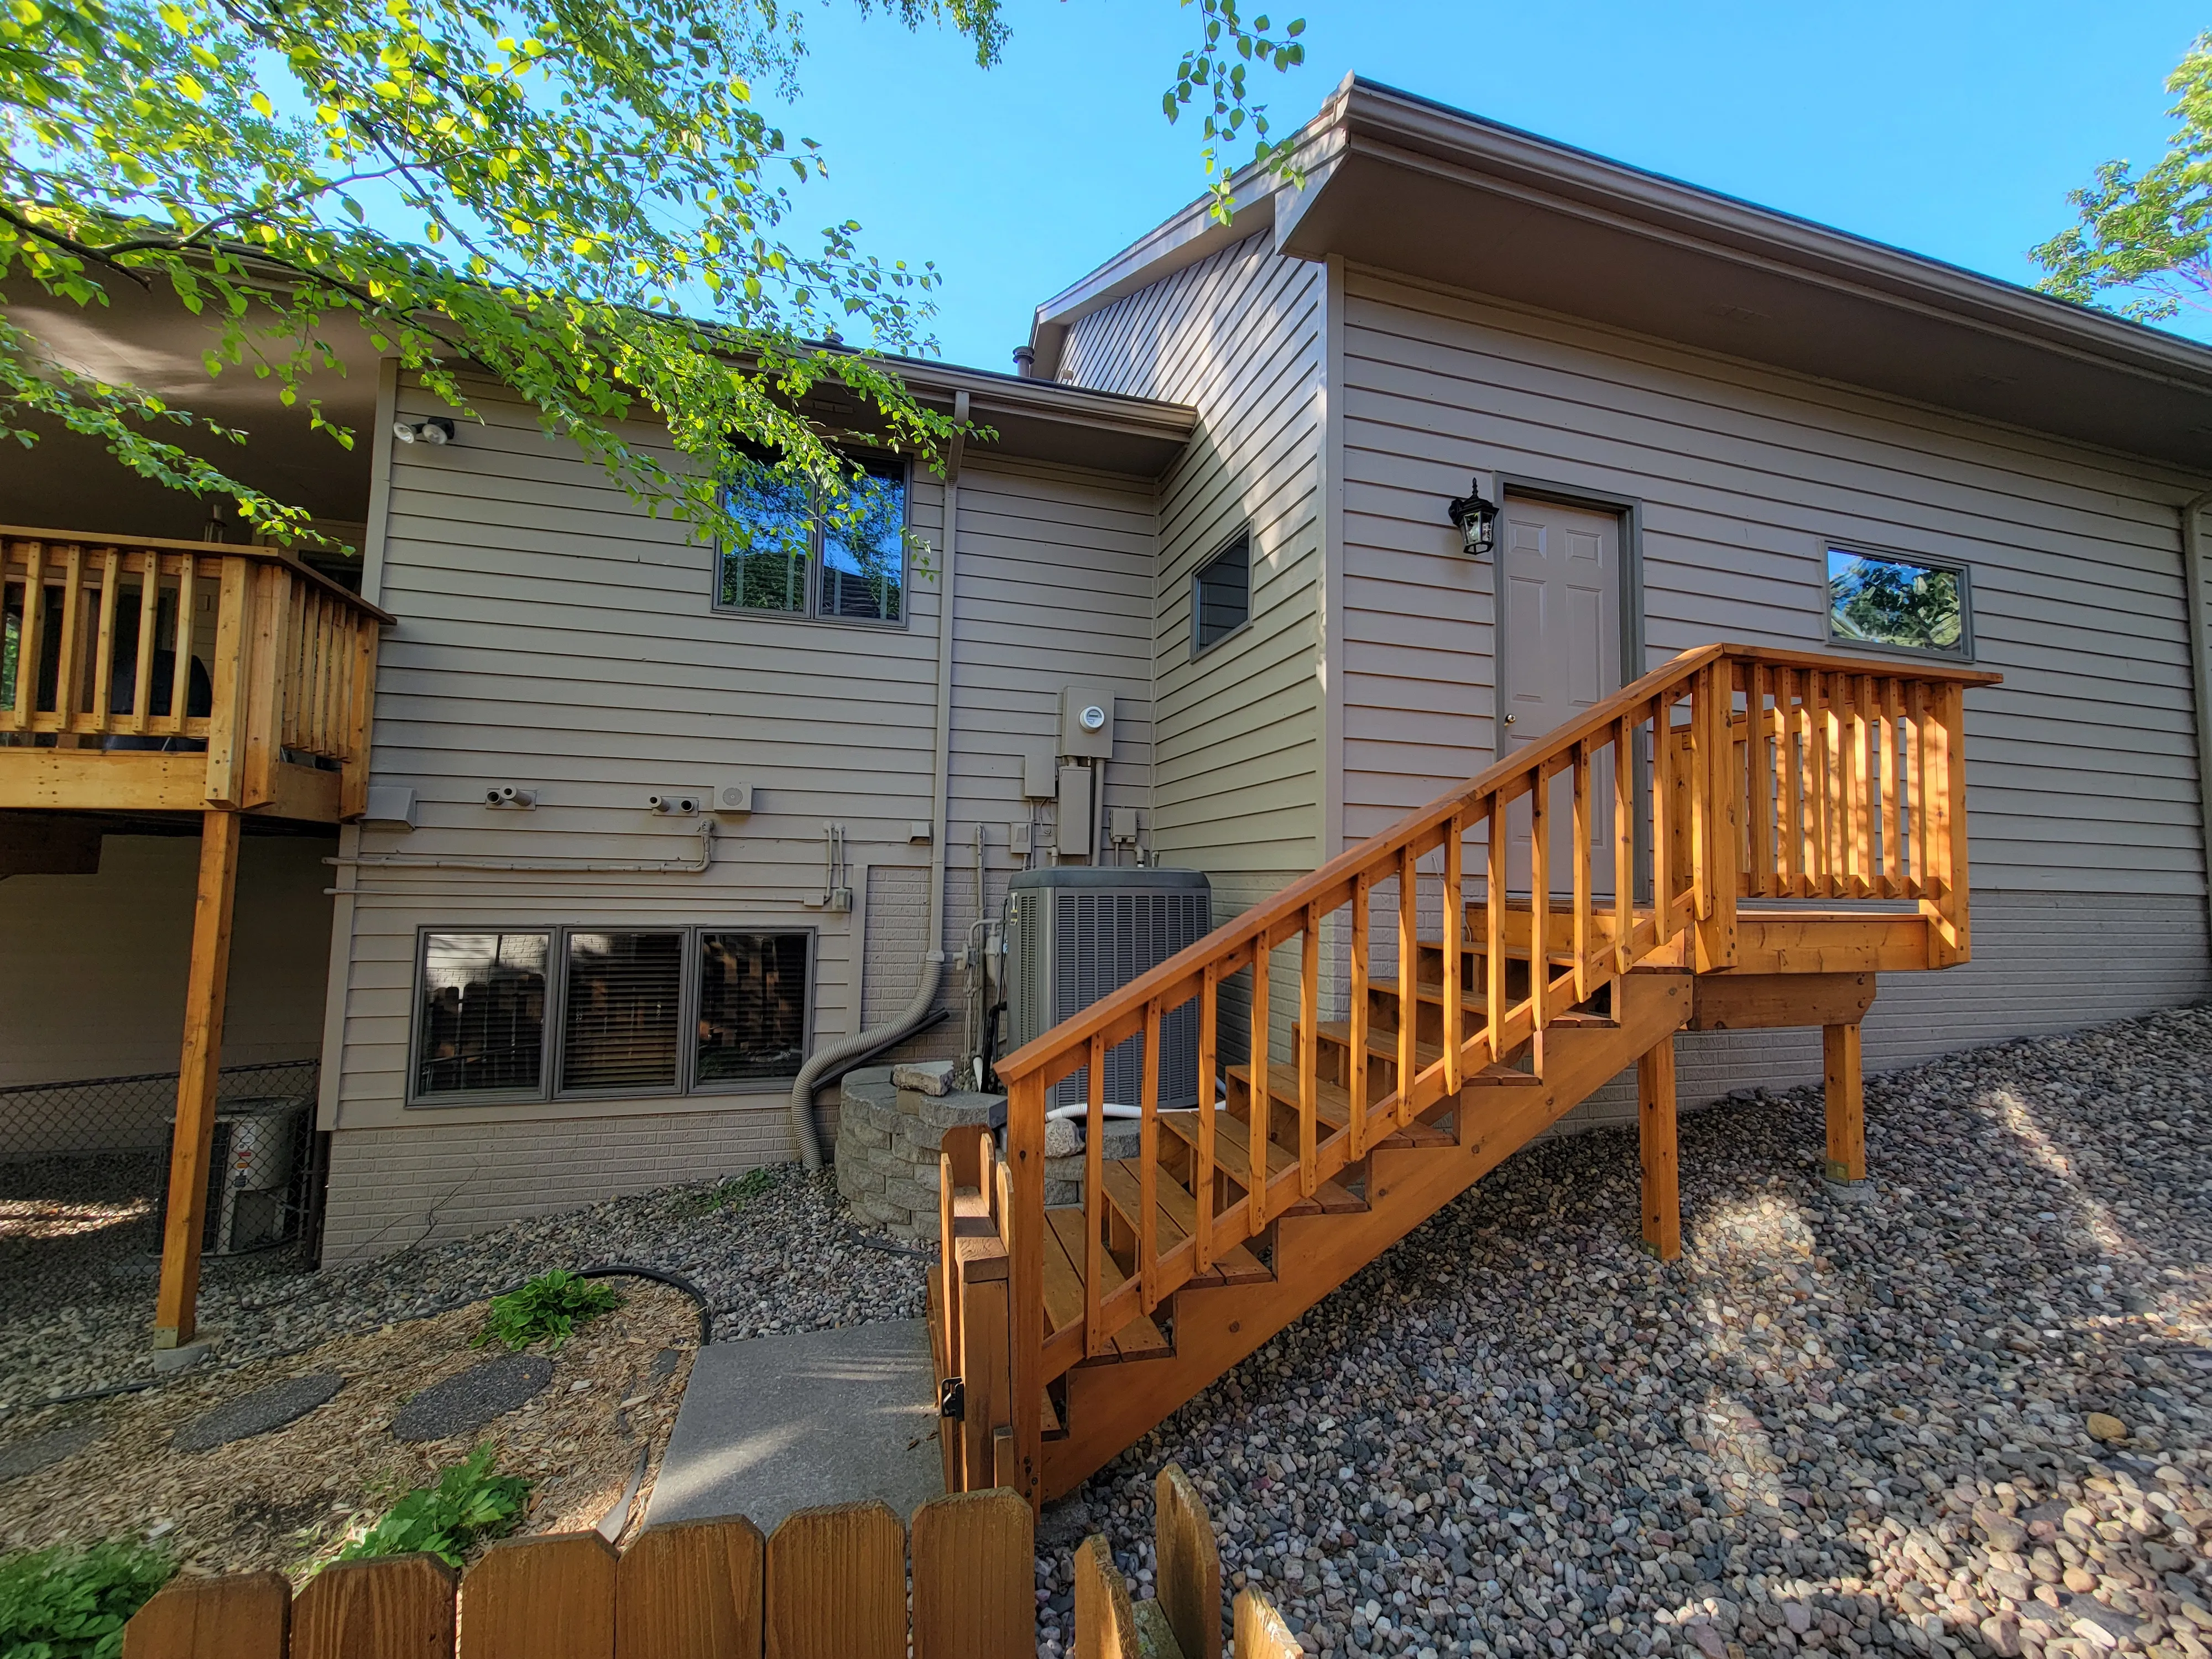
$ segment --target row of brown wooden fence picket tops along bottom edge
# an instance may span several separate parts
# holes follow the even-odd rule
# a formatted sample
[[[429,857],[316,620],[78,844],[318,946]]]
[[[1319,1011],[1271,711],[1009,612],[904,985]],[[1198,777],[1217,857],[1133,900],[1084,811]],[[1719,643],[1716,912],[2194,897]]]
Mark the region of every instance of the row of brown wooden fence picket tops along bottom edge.
[[[1221,1659],[1221,1555],[1197,1486],[1155,1482],[1159,1599],[1133,1604],[1104,1537],[1077,1566],[1077,1659]],[[907,1584],[911,1573],[911,1617]],[[1029,1500],[956,1493],[900,1524],[883,1502],[493,1544],[469,1573],[431,1555],[175,1579],[124,1630],[124,1659],[1035,1659]],[[1254,1601],[1248,1608],[1245,1601]],[[1239,1628],[1281,1630],[1248,1590]],[[1139,1644],[1139,1630],[1144,1641]],[[1239,1659],[1292,1659],[1254,1637]],[[909,1648],[911,1644],[911,1648]]]

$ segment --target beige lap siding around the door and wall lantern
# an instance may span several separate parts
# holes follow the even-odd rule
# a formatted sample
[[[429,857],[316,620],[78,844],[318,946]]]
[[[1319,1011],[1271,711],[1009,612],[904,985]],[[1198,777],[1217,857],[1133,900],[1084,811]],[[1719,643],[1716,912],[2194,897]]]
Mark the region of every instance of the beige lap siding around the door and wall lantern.
[[[1367,272],[1343,378],[1347,838],[1491,759],[1480,467],[1641,502],[1648,664],[1820,648],[1829,542],[1969,564],[1975,889],[2203,894],[2179,476]]]

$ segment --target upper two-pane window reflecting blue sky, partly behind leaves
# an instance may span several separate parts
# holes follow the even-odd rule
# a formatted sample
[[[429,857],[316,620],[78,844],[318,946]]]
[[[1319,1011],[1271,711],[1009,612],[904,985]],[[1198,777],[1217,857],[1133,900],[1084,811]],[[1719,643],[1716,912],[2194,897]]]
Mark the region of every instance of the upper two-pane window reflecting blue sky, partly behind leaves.
[[[863,462],[845,504],[830,513],[805,480],[781,478],[748,449],[732,460],[723,500],[745,526],[745,544],[721,549],[717,608],[905,622],[905,467]]]

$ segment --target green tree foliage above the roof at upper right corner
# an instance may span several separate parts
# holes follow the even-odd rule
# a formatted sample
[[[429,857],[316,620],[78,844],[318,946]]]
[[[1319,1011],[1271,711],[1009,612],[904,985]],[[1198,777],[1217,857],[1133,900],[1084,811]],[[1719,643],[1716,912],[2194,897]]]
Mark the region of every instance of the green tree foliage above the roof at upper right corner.
[[[2166,159],[2143,175],[2106,161],[2068,201],[2077,219],[2031,252],[2046,294],[2159,323],[2212,303],[2212,35],[2199,35],[2166,82],[2181,122]]]

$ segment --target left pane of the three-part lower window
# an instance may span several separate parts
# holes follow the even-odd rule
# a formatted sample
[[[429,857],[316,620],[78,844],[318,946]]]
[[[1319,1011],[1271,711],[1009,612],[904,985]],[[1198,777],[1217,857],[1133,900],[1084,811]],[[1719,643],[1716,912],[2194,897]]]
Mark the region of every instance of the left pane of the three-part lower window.
[[[416,1026],[420,1095],[542,1093],[546,933],[427,933]]]

